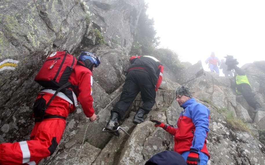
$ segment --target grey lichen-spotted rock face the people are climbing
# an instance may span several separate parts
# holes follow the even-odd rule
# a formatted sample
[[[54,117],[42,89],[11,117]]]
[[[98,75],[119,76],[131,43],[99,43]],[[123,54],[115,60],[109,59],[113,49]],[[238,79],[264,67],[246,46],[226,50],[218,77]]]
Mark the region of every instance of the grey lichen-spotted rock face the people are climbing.
[[[200,61],[178,74],[164,73],[156,105],[146,115],[146,122],[132,123],[135,106],[142,102],[133,103],[127,116],[119,121],[130,136],[122,131],[120,137],[102,132],[122,91],[143,8],[143,0],[0,1],[0,142],[29,140],[34,125],[32,105],[41,89],[33,79],[48,54],[67,49],[76,57],[81,51],[91,51],[101,59],[93,73],[98,120],[91,123],[78,107],[68,116],[56,151],[40,164],[145,164],[154,154],[173,150],[173,136],[154,127],[150,120],[176,126],[182,109],[174,98],[180,85],[192,87],[196,101],[210,109],[208,164],[265,164],[265,148],[258,141],[257,131],[264,129],[265,114],[258,112],[252,123],[253,109],[244,98],[236,97],[232,77],[204,72]],[[106,45],[94,45],[94,28],[102,32]],[[263,109],[264,66],[265,61],[242,66]],[[141,100],[140,95],[136,100]],[[228,112],[248,123],[250,131],[234,129],[226,119]]]

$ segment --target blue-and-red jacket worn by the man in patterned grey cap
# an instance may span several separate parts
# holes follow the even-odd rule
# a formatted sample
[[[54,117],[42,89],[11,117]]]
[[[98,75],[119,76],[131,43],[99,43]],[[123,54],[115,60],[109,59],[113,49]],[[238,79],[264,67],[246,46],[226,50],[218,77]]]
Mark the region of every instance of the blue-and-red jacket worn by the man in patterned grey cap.
[[[206,148],[206,138],[209,132],[210,111],[194,98],[181,105],[184,109],[178,118],[178,128],[167,126],[165,129],[174,135],[174,151],[182,154],[185,151],[193,151],[198,154],[210,155]]]

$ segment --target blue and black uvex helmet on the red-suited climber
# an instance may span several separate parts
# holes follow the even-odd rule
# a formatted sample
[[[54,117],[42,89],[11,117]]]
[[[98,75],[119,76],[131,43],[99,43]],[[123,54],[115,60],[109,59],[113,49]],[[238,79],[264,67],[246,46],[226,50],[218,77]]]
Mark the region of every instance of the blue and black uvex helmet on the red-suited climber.
[[[83,51],[78,58],[78,61],[83,62],[85,67],[92,71],[93,66],[97,67],[100,64],[99,57],[96,57],[93,53]]]

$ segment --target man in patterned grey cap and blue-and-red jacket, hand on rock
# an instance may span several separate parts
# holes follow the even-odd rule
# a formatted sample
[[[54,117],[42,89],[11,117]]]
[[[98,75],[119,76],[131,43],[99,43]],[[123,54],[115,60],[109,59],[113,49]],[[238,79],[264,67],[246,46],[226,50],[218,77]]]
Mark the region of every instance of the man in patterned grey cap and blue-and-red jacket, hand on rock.
[[[192,98],[187,86],[178,87],[176,101],[183,108],[178,118],[177,128],[158,120],[151,121],[156,123],[156,127],[161,127],[174,136],[174,151],[181,154],[188,165],[206,165],[210,159],[206,148],[210,110]]]

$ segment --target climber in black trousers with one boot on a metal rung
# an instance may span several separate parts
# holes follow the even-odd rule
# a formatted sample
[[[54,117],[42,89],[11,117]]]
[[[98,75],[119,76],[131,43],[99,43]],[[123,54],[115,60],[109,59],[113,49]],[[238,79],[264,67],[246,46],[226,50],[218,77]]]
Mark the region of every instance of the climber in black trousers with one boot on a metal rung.
[[[106,130],[113,131],[109,133],[115,136],[120,135],[118,130],[115,131],[118,128],[118,120],[125,116],[139,92],[143,104],[138,108],[133,123],[140,124],[145,121],[143,116],[151,111],[156,91],[162,82],[164,67],[156,58],[148,55],[133,56],[130,58],[130,64],[120,100],[110,111],[110,119],[105,127]]]

